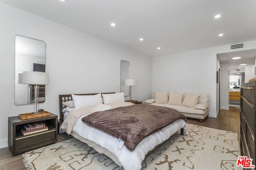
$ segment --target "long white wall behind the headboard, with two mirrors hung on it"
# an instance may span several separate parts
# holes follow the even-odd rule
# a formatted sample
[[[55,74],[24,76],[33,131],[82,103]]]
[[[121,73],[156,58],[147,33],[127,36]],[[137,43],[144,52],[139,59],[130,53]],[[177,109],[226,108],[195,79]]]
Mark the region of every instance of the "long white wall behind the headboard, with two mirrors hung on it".
[[[14,104],[15,36],[46,43],[46,102],[40,108],[59,115],[58,95],[120,92],[120,60],[130,61],[132,99],[144,101],[152,92],[152,59],[0,3],[0,148],[7,146],[8,117],[33,111],[33,105]]]

